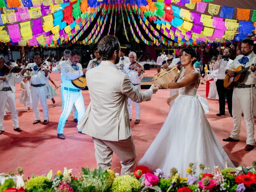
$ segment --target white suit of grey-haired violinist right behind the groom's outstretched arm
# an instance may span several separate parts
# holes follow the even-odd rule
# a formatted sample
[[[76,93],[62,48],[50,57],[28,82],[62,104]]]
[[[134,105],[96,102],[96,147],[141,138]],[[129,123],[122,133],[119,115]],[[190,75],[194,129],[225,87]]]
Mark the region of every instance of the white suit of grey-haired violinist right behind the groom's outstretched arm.
[[[142,76],[142,74],[140,76],[138,76],[138,72],[136,70],[130,70],[129,69],[130,64],[131,64],[131,62],[124,65],[125,73],[129,76],[130,81],[132,82],[132,84],[138,90],[140,90],[140,83],[141,83],[141,80],[142,80],[143,76]],[[130,119],[132,119],[132,102],[133,101],[130,98],[128,98],[128,111],[129,111],[129,118]],[[140,103],[134,102],[134,106],[135,106],[135,119],[140,120]]]

